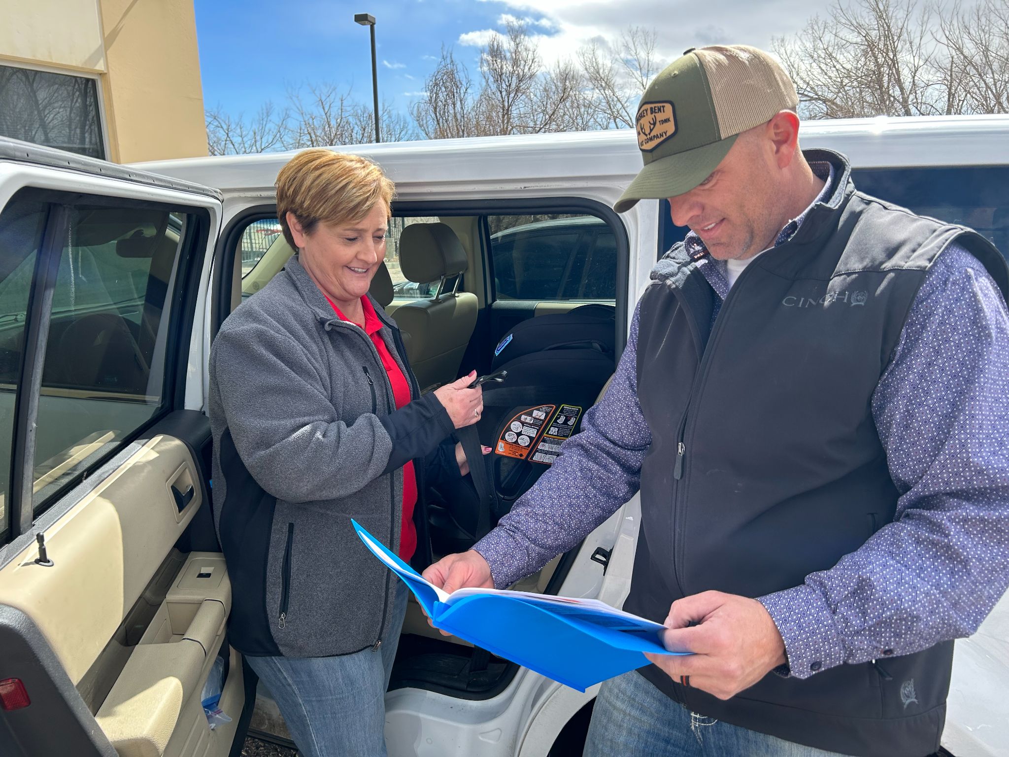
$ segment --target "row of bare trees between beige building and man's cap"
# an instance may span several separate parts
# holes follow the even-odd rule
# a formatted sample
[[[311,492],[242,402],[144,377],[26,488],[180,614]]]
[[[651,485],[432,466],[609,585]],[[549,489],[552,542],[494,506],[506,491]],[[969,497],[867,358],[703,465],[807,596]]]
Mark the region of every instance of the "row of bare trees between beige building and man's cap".
[[[416,128],[385,103],[382,134],[398,141],[418,129],[440,139],[633,126],[638,100],[663,65],[656,41],[654,30],[631,27],[613,43],[589,44],[577,61],[547,67],[540,39],[513,19],[480,48],[475,76],[443,47],[423,99],[410,109]],[[371,109],[331,83],[289,88],[284,111],[269,105],[257,119],[211,111],[207,128],[214,154],[362,143],[374,135]]]

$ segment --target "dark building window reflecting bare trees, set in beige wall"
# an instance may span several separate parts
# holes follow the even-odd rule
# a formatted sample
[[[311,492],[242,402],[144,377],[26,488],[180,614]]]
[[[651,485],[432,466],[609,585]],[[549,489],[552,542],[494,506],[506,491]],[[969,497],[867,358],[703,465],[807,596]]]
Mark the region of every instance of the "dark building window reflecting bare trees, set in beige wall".
[[[0,134],[104,158],[96,81],[0,66]]]

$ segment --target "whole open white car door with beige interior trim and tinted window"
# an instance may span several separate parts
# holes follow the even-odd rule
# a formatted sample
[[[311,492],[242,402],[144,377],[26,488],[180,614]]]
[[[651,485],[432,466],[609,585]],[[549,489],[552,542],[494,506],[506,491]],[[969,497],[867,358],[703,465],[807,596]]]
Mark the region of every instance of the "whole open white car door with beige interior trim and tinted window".
[[[57,210],[51,237],[15,247],[21,267],[0,278],[4,312],[20,307],[11,313],[38,341],[28,350],[12,331],[0,377],[20,476],[2,503],[12,541],[0,542],[0,679],[18,678],[30,698],[0,712],[0,751],[229,754],[249,692],[226,646],[231,586],[194,367],[205,364],[219,195],[88,160],[19,165],[2,147],[0,211]],[[8,247],[24,239],[6,228]],[[18,306],[14,287],[54,294]],[[201,694],[219,653],[219,706],[233,719],[211,730]]]

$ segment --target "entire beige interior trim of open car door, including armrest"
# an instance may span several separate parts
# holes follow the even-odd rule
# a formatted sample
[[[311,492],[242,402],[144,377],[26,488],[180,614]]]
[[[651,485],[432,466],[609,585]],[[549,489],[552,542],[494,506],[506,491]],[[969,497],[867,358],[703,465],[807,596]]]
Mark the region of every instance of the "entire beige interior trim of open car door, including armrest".
[[[185,414],[164,425],[188,424],[200,444],[209,424]],[[192,443],[159,433],[160,425],[41,529],[51,567],[34,562],[32,542],[0,568],[0,609],[37,629],[77,686],[73,698],[86,711],[101,704],[97,724],[120,755],[226,754],[237,721],[211,732],[200,691],[224,639],[230,581],[220,553],[174,550],[207,509],[207,494]],[[143,618],[165,577],[164,599]],[[244,685],[241,660],[231,654],[221,708],[237,715]],[[25,685],[34,691],[38,682],[28,677]]]

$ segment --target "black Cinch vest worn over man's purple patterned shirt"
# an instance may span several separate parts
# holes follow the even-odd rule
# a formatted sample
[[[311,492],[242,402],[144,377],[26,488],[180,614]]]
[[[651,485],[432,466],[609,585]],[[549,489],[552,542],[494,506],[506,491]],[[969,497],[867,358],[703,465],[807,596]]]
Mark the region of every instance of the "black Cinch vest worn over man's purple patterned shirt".
[[[715,295],[682,243],[641,300],[638,396],[653,443],[625,608],[659,623],[706,589],[799,585],[890,523],[899,494],[871,399],[918,288],[956,242],[1009,292],[980,234],[857,192],[837,153],[805,154],[833,164],[830,198],[741,274],[713,327]],[[944,642],[804,680],[769,673],[727,701],[654,666],[642,674],[695,713],[787,741],[922,757],[939,746],[951,663]]]

